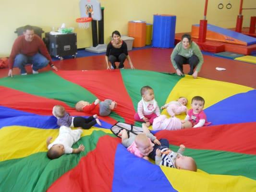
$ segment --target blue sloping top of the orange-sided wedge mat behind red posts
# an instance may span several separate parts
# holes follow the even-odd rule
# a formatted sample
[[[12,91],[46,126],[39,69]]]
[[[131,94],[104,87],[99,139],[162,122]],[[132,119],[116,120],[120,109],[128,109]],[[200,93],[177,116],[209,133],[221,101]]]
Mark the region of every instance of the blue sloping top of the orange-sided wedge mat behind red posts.
[[[199,27],[199,24],[195,24],[195,26]],[[222,27],[218,27],[218,26],[215,26],[215,25],[212,25],[212,24],[207,24],[207,30],[222,34],[224,36],[230,36],[234,39],[246,42],[247,45],[256,44],[256,38],[254,38],[252,36],[246,36],[242,33],[238,33],[236,31],[232,31],[232,30],[225,29],[225,28],[222,28]]]

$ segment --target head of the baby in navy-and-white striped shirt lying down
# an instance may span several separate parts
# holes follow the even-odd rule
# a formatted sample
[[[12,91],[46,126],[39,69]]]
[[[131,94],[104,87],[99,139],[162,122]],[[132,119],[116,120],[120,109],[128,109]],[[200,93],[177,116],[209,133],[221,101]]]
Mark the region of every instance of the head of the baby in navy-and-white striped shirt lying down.
[[[190,171],[197,170],[195,160],[190,156],[178,156],[175,160],[175,167],[178,169],[185,169]]]

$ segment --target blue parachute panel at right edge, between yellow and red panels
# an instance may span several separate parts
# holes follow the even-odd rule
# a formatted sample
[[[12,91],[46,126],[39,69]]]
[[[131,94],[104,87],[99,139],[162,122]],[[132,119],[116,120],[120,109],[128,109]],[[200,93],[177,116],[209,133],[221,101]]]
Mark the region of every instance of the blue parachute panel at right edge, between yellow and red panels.
[[[240,93],[219,101],[205,109],[207,120],[212,125],[255,122],[256,90]]]

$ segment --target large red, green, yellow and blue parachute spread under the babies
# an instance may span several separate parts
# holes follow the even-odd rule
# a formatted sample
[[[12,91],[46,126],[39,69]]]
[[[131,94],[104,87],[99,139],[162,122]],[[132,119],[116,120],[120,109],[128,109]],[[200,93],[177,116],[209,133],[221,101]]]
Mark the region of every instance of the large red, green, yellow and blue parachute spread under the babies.
[[[205,98],[211,126],[156,133],[168,139],[173,150],[184,144],[197,172],[138,158],[110,132],[117,121],[140,125],[133,116],[144,85],[154,89],[159,106],[179,96],[189,101],[197,95]],[[253,88],[140,70],[59,71],[1,78],[0,93],[0,191],[256,191]],[[84,152],[49,160],[46,139],[59,132],[52,107],[59,104],[73,116],[88,116],[74,105],[96,98],[115,100],[118,108],[101,118],[102,127],[84,130],[74,144],[84,144]]]

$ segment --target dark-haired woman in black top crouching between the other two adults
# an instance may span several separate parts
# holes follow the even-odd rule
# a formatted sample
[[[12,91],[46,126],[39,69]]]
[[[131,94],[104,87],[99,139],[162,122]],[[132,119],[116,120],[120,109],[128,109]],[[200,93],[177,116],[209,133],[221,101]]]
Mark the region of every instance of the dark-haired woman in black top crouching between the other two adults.
[[[105,56],[105,60],[107,63],[107,69],[116,69],[115,62],[120,62],[119,69],[124,69],[124,60],[127,59],[131,69],[134,69],[134,65],[131,61],[130,56],[128,55],[127,51],[127,45],[126,43],[121,39],[121,35],[118,31],[114,31],[112,33],[113,40],[110,41],[107,52]],[[111,66],[109,66],[109,62],[111,63]]]

